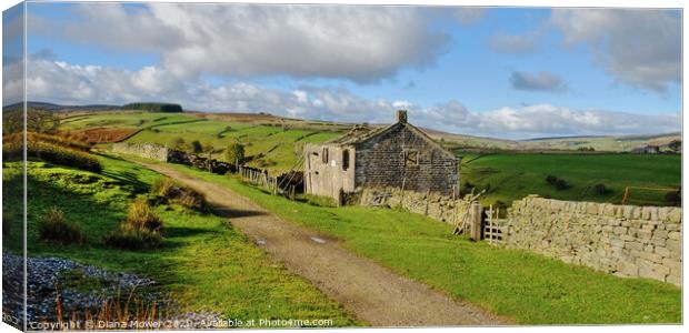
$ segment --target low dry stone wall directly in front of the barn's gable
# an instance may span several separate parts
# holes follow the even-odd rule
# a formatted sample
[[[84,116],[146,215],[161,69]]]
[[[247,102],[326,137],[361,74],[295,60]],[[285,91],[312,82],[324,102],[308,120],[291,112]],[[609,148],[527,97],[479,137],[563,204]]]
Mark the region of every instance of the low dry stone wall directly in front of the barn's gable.
[[[469,209],[469,201],[453,200],[435,192],[402,191],[397,188],[367,188],[359,193],[359,204],[390,206],[427,215],[431,219],[455,223],[461,221]]]

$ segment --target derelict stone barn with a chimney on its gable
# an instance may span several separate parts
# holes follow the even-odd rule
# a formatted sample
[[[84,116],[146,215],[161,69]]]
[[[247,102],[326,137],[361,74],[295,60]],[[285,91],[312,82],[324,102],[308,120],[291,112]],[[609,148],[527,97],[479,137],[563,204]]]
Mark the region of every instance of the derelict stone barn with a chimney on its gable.
[[[343,137],[304,145],[304,191],[340,199],[363,188],[459,194],[459,159],[398,111],[380,129],[356,127]]]

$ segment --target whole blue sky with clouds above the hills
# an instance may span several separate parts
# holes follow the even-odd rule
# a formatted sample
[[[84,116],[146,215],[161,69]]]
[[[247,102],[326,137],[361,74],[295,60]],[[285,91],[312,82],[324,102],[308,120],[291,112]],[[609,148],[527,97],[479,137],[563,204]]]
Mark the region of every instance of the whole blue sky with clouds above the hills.
[[[681,130],[679,10],[30,2],[26,48],[30,101],[369,123],[405,109],[505,139]]]

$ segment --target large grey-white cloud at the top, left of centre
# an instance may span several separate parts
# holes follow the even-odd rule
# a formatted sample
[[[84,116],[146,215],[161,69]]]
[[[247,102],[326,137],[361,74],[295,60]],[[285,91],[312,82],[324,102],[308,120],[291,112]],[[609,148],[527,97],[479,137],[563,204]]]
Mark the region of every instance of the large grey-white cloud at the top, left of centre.
[[[445,52],[449,36],[412,7],[119,3],[79,7],[79,22],[37,24],[37,33],[154,51],[180,78],[202,73],[344,78],[359,83],[423,69]]]

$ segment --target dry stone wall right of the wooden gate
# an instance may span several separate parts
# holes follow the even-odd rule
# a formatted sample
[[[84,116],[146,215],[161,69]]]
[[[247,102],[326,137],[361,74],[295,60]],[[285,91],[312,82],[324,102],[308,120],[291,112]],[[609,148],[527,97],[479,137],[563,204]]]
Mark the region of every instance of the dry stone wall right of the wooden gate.
[[[508,210],[503,242],[620,276],[681,284],[681,209],[549,200]]]

